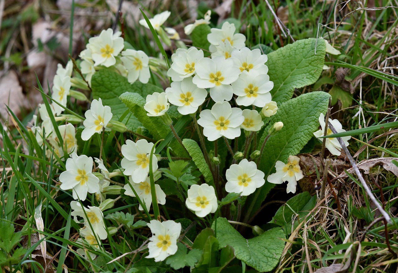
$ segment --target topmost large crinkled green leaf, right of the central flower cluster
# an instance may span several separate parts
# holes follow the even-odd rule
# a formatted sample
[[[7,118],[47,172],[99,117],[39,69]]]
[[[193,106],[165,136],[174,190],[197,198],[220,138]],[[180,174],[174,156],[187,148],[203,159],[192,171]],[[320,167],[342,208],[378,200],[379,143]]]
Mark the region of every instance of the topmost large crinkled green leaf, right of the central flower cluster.
[[[316,44],[316,55],[315,55]],[[273,81],[272,100],[278,105],[291,99],[295,88],[316,82],[322,72],[326,44],[324,39],[303,39],[269,54],[269,80]]]

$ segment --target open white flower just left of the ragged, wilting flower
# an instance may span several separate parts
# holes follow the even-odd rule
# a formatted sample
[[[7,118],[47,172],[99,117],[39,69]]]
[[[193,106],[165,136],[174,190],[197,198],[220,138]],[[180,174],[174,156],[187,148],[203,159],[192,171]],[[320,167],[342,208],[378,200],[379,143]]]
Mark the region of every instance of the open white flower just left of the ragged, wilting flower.
[[[264,185],[264,173],[257,169],[254,161],[242,159],[239,164],[232,164],[225,173],[226,192],[242,193],[242,196],[252,194],[256,188]]]

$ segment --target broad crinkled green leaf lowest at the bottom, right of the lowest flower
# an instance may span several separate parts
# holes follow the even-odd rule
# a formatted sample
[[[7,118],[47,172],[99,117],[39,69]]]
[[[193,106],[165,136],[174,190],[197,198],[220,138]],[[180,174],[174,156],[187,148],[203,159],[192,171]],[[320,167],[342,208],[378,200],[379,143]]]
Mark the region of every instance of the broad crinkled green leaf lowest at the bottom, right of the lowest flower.
[[[221,217],[217,219],[217,239],[220,248],[232,246],[236,258],[259,272],[271,271],[278,264],[285,247],[282,238],[285,239],[283,230],[272,228],[260,236],[245,239],[227,219]]]

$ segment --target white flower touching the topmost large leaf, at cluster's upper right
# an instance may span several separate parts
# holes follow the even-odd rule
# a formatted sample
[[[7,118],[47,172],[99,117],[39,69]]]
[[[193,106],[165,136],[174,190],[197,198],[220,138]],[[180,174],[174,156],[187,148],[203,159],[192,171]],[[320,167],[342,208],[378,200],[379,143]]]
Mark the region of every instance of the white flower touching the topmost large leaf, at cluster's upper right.
[[[258,48],[250,50],[244,46],[240,50],[232,51],[231,57],[240,72],[246,70],[247,72],[256,71],[258,74],[268,73],[268,67],[264,64],[268,60],[267,55],[261,54]]]

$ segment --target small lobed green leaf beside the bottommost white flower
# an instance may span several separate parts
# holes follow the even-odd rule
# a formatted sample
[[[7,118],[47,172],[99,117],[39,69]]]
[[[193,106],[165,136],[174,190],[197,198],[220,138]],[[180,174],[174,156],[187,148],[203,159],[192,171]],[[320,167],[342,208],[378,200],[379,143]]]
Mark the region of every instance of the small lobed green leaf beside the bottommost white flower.
[[[178,270],[185,266],[194,266],[202,256],[202,251],[193,249],[187,253],[187,247],[184,244],[178,243],[178,250],[176,254],[166,259],[166,264]]]

